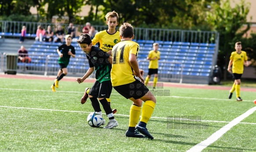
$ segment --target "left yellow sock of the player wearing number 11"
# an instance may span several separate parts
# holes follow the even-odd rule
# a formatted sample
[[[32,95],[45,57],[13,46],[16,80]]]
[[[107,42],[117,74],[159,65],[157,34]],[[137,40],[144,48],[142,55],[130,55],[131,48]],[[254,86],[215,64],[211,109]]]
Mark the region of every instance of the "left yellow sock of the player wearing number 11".
[[[135,127],[141,115],[141,107],[132,105],[130,108],[129,127]]]

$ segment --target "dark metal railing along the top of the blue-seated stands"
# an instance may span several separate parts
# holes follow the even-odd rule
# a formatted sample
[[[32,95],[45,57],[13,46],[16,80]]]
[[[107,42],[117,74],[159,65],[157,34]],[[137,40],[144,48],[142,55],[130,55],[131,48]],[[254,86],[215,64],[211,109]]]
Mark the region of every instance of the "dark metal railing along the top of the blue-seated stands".
[[[0,21],[0,33],[21,33],[22,26],[27,28],[27,34],[36,34],[37,26],[41,25],[44,29],[51,26],[51,30],[56,31],[57,25],[67,33],[69,24],[59,23],[39,23],[25,21]],[[74,24],[77,35],[82,32],[83,24]],[[97,31],[108,29],[108,26],[93,25]],[[116,28],[118,30],[118,27]],[[188,31],[162,28],[139,28],[134,27],[135,40],[153,40],[153,41],[180,41],[193,43],[215,43],[218,44],[219,34],[216,31]]]

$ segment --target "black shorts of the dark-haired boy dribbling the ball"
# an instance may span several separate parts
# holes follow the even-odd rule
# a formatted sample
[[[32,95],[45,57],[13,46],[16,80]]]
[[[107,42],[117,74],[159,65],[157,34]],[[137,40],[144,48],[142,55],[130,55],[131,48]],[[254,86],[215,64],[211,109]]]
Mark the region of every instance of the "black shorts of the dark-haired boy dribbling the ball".
[[[93,86],[90,88],[89,95],[97,98],[109,98],[111,92],[111,80],[103,81],[102,83],[100,83],[99,81],[95,81]]]

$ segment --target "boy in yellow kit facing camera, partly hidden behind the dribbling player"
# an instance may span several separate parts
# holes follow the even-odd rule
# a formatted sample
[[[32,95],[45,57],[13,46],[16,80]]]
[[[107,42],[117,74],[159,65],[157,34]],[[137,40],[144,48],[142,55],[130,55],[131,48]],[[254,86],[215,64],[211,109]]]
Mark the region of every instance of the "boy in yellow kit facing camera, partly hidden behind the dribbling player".
[[[115,44],[121,41],[120,33],[115,29],[118,25],[119,16],[115,11],[108,12],[105,16],[108,24],[108,30],[97,32],[95,37],[92,40],[92,44],[96,45],[100,43],[101,50],[108,52],[109,55],[112,53],[112,48]],[[88,93],[90,88],[85,88],[83,97],[81,98],[81,104],[84,104],[87,101]],[[108,104],[110,105],[110,99],[107,98]],[[116,109],[112,109],[113,114],[116,113]]]

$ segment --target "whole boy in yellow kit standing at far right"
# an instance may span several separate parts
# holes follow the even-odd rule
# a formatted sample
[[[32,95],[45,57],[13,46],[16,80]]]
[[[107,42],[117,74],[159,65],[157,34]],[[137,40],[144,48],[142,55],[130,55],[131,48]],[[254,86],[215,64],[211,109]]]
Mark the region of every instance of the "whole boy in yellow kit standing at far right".
[[[231,99],[232,94],[235,90],[236,92],[236,100],[237,101],[242,101],[240,97],[240,83],[241,83],[241,76],[244,72],[244,65],[248,66],[248,61],[247,61],[247,55],[245,51],[242,50],[242,43],[240,41],[235,43],[235,50],[234,52],[231,53],[230,56],[230,61],[227,67],[227,71],[231,72],[231,65],[232,66],[232,73],[234,76],[234,84],[229,92],[228,98]]]

